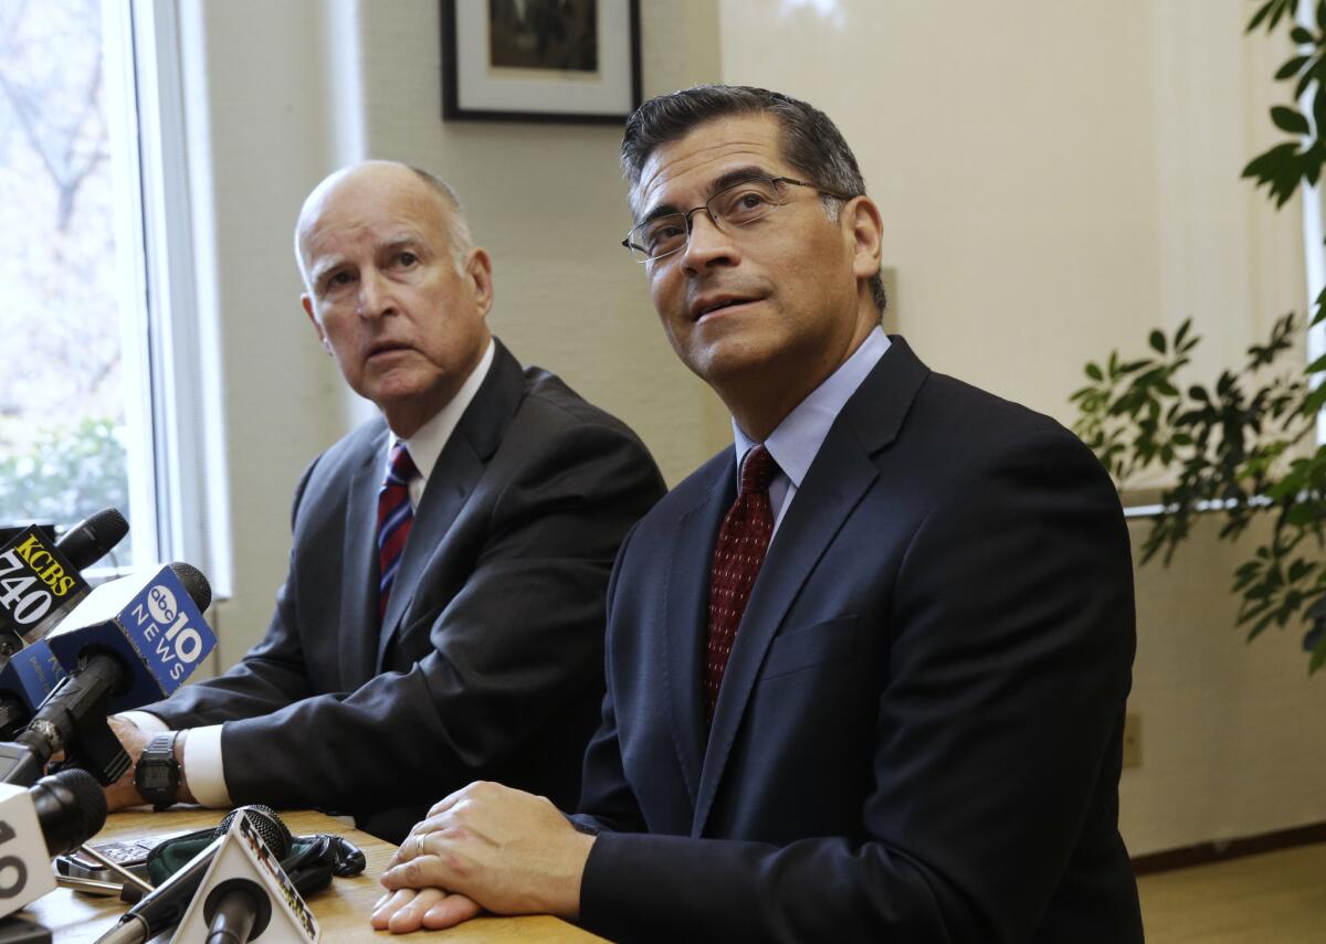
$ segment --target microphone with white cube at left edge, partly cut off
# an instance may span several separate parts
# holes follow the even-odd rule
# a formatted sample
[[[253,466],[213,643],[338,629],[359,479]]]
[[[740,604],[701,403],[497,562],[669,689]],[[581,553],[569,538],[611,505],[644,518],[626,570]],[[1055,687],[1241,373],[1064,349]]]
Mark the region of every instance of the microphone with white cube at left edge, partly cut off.
[[[106,796],[86,770],[61,770],[32,788],[0,784],[0,915],[56,887],[50,858],[106,823]]]

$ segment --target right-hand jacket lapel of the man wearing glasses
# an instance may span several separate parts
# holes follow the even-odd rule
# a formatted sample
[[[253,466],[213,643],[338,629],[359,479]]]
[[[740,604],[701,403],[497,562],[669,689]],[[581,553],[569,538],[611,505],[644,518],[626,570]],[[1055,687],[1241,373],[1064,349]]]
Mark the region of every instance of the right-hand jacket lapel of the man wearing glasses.
[[[878,477],[873,455],[898,435],[928,374],[902,338],[891,342],[834,420],[760,569],[713,709],[692,835],[704,831],[770,642],[815,563]]]

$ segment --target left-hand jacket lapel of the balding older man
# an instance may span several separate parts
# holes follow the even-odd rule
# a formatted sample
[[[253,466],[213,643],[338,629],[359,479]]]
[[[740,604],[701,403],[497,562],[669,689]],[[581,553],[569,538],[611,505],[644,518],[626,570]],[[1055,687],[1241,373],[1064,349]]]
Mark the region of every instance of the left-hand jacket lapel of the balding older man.
[[[359,685],[374,675],[373,632],[378,622],[378,489],[386,473],[387,430],[374,436],[350,476],[345,509],[341,581],[341,678]],[[365,538],[367,536],[367,538]]]

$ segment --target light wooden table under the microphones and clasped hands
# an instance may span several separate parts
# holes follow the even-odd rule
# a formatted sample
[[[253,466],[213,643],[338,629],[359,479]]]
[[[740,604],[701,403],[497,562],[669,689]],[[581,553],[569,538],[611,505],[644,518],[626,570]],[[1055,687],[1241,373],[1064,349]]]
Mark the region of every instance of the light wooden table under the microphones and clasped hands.
[[[219,810],[184,809],[168,813],[115,813],[97,835],[98,842],[125,839],[145,834],[178,833],[206,829],[221,821]],[[419,931],[412,935],[391,935],[369,927],[373,903],[382,896],[378,876],[395,850],[389,842],[367,833],[347,829],[332,817],[312,811],[281,811],[281,819],[290,833],[338,833],[363,850],[369,864],[363,874],[353,879],[332,879],[332,886],[310,895],[309,907],[322,928],[328,944],[359,940],[430,940],[438,944],[489,944],[501,941],[548,941],[549,944],[586,944],[602,941],[573,924],[548,915],[526,917],[476,917],[450,931]],[[84,895],[68,888],[33,902],[21,912],[46,925],[56,944],[95,941],[125,912],[129,906],[117,898]],[[155,940],[170,940],[160,936]]]

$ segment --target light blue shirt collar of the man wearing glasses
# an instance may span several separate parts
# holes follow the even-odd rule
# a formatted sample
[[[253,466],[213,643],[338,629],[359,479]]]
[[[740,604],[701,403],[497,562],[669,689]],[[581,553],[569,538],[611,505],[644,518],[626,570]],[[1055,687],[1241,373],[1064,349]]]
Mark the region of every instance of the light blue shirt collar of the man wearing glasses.
[[[888,335],[884,334],[883,327],[876,326],[853,351],[851,357],[843,361],[838,370],[784,416],[777,428],[764,440],[764,447],[769,449],[773,461],[778,463],[778,469],[788,476],[793,488],[801,488],[801,480],[810,469],[810,463],[819,452],[825,436],[829,435],[829,427],[833,426],[843,406],[857,392],[857,387],[874,370],[887,350]],[[732,436],[736,440],[737,485],[740,488],[741,461],[745,459],[745,453],[758,443],[747,436],[735,419],[732,420]]]

